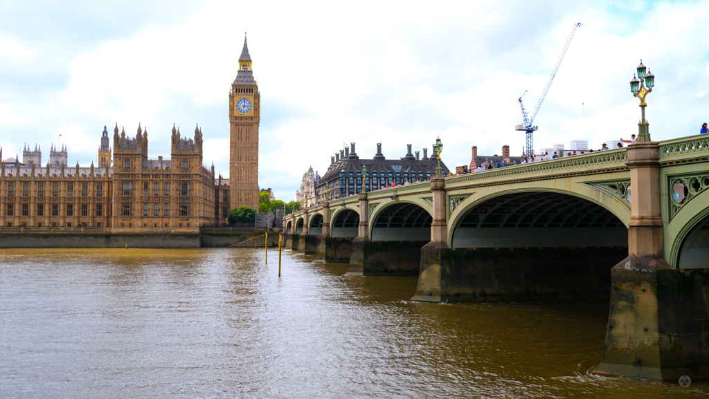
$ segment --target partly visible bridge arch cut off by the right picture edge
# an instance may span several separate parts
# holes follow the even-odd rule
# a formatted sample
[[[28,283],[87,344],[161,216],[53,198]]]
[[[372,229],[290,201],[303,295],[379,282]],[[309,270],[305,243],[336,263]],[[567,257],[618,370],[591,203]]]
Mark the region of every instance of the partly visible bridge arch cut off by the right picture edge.
[[[671,266],[678,269],[708,266],[709,261],[699,266],[700,257],[709,254],[709,242],[704,240],[709,237],[705,236],[709,231],[708,220],[709,190],[694,197],[665,226],[665,257]]]

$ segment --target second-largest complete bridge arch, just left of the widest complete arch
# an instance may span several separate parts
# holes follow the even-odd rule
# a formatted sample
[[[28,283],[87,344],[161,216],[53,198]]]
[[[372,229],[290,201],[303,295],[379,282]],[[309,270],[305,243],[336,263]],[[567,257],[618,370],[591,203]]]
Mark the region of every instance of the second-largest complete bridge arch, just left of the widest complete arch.
[[[369,239],[372,241],[431,240],[430,210],[414,201],[396,201],[375,208],[370,218]]]

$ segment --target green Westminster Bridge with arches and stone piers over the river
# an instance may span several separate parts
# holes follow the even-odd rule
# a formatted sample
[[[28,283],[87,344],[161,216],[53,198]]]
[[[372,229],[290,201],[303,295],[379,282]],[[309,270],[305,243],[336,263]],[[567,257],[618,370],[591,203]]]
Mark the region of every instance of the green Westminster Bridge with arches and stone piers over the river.
[[[413,300],[610,297],[596,373],[709,377],[709,137],[359,193],[286,215],[286,246]],[[370,223],[371,221],[371,223]]]

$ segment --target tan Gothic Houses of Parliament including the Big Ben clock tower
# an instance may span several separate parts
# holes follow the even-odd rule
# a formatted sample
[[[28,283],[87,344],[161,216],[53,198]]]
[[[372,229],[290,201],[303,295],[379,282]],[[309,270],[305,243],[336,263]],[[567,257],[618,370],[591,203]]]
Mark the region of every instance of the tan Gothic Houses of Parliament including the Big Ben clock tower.
[[[229,91],[229,173],[203,165],[202,130],[187,137],[172,126],[170,158],[148,157],[147,128],[135,135],[104,126],[98,164],[67,164],[65,146],[40,146],[22,159],[0,148],[0,227],[104,227],[111,232],[180,231],[226,222],[231,208],[258,208],[260,95],[246,38]]]

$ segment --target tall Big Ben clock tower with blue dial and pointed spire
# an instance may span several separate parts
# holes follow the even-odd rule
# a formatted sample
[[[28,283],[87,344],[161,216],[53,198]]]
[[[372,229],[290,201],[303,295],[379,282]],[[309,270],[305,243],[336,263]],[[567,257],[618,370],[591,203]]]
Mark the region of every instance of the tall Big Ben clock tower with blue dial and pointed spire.
[[[259,121],[261,96],[244,36],[239,72],[229,92],[230,208],[259,209]]]

